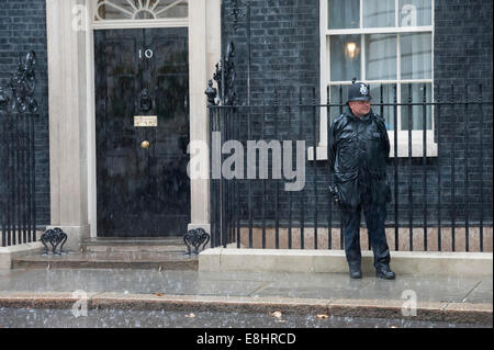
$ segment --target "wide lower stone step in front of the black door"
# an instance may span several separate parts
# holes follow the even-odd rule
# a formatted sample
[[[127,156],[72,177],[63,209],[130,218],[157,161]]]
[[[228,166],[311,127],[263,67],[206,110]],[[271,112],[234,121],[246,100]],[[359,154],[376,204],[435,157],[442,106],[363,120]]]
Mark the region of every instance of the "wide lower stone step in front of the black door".
[[[161,269],[197,270],[197,256],[178,252],[68,252],[12,259],[12,269]]]

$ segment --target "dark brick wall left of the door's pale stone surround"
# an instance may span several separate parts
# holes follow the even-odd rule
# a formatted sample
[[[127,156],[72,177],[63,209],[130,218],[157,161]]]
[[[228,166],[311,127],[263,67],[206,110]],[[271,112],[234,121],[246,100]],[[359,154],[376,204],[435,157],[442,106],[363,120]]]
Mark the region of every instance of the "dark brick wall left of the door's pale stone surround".
[[[0,0],[0,83],[16,68],[19,56],[36,53],[36,211],[37,224],[49,224],[48,78],[46,0]]]

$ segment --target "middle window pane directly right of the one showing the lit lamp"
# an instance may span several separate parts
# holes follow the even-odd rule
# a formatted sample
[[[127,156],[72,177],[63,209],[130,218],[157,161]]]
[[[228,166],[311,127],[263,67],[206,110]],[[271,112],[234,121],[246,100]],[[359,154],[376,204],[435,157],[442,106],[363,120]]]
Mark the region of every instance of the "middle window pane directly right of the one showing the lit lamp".
[[[396,79],[396,34],[366,35],[366,79]]]

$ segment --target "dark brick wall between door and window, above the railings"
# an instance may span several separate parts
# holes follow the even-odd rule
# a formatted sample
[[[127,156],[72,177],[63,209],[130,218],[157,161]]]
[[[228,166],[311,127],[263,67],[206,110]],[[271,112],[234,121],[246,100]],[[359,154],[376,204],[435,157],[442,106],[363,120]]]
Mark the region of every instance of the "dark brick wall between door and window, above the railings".
[[[272,101],[274,89],[319,84],[319,5],[317,0],[250,0],[250,91],[252,103]],[[229,1],[226,1],[229,4]],[[245,3],[245,2],[244,2]],[[223,18],[223,44],[236,44],[239,101],[246,101],[247,32],[245,8],[238,30],[232,30],[232,9]],[[225,47],[224,47],[225,48]],[[318,91],[318,89],[317,89]]]

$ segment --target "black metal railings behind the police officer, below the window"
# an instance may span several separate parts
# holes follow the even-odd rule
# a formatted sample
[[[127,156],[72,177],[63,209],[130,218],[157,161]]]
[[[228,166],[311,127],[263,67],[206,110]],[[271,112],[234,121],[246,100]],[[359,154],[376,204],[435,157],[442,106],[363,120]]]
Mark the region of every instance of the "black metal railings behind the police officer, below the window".
[[[462,91],[436,87],[434,100],[430,84],[419,87],[419,97],[412,84],[400,88],[401,101],[396,86],[371,90],[373,111],[385,116],[392,145],[388,166],[393,193],[386,218],[390,247],[492,251],[492,166],[486,165],[492,162],[492,153],[487,155],[492,129],[484,127],[492,128],[492,123],[486,124],[492,121],[492,101],[483,100],[481,86],[463,87]],[[324,159],[327,149],[319,139],[321,125],[325,125],[321,120],[332,121],[344,112],[345,89],[328,88],[325,104],[318,103],[315,89],[308,97],[303,95],[304,90],[283,97],[272,91],[270,105],[216,105],[210,89],[212,247],[344,248],[339,211],[329,200],[327,161],[305,158],[303,190],[284,191],[291,180],[285,174],[273,178],[272,171],[277,162],[284,165],[290,157],[295,165],[294,153],[283,151],[270,162],[256,157],[256,167],[263,162],[269,176],[257,177],[256,172],[256,179],[247,179],[252,163],[245,156],[237,158],[242,162],[232,161],[234,148],[223,154],[221,147],[235,139],[237,148],[242,145],[247,154],[248,140],[278,140],[280,145],[292,140],[293,147],[296,140],[304,140],[305,155],[311,147],[319,147],[317,157]],[[328,134],[330,122],[326,124]],[[272,155],[273,149],[268,149]],[[238,172],[225,178],[218,167]]]

